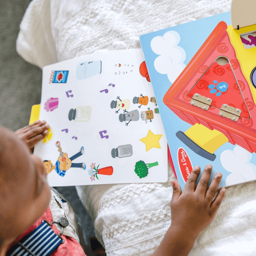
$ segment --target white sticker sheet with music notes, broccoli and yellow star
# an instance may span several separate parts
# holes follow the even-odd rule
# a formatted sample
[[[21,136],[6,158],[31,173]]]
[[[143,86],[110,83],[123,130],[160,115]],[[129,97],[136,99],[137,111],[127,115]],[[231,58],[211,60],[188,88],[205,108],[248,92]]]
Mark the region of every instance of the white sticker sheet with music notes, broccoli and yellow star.
[[[167,140],[141,49],[45,66],[39,107],[50,128],[34,154],[50,186],[167,181]]]

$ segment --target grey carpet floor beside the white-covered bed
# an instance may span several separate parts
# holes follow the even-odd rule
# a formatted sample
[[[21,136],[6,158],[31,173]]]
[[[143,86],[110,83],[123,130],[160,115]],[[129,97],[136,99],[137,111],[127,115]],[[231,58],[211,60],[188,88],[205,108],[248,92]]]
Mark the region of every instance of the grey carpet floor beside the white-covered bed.
[[[32,105],[41,100],[42,70],[23,60],[16,52],[19,25],[30,0],[0,0],[0,124],[13,131],[28,125]],[[75,187],[57,188],[71,203],[82,226],[85,251],[94,226],[82,206]]]

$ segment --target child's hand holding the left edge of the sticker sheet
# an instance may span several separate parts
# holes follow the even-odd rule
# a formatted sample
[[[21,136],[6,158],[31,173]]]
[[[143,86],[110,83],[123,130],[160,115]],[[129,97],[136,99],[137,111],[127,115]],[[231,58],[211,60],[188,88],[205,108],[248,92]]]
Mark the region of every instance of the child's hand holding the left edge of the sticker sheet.
[[[15,134],[22,139],[33,153],[34,145],[46,137],[48,133],[49,124],[46,121],[36,121],[28,126],[16,130]]]

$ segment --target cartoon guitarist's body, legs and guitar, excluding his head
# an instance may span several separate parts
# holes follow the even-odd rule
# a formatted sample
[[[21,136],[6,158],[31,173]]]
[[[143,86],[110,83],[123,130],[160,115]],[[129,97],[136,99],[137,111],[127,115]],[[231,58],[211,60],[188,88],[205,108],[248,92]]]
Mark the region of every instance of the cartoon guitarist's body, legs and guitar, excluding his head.
[[[55,171],[57,172],[57,174],[59,174],[60,176],[64,177],[66,174],[66,171],[70,168],[70,167],[76,167],[76,168],[82,168],[82,169],[86,169],[86,165],[84,162],[82,163],[78,163],[78,164],[74,164],[72,163],[72,160],[78,158],[80,155],[84,154],[84,147],[82,146],[81,149],[79,150],[78,153],[76,153],[75,155],[71,156],[71,158],[68,158],[68,154],[67,153],[63,153],[62,152],[62,148],[60,147],[60,143],[56,142],[56,146],[59,148],[58,151],[60,153],[60,156],[56,162],[56,168]]]

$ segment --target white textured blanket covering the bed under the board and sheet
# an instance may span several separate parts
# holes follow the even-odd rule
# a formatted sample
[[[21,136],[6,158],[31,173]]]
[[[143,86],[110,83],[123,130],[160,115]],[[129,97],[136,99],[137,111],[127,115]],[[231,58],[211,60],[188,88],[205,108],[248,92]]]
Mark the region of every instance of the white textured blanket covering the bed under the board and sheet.
[[[230,2],[33,0],[21,22],[17,51],[42,68],[96,51],[140,48],[141,34],[229,11]],[[169,166],[166,183],[77,187],[107,255],[154,252],[171,223],[172,178]],[[255,256],[255,195],[255,183],[227,188],[215,219],[189,255]]]

